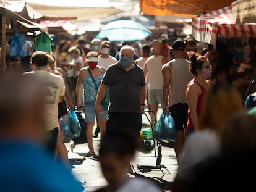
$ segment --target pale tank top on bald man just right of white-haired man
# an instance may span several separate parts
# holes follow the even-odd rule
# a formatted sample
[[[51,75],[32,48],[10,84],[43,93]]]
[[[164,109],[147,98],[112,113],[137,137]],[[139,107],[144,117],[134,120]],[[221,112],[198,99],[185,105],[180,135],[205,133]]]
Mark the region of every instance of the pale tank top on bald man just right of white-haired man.
[[[150,56],[148,58],[148,88],[150,90],[163,89],[162,58],[163,56]]]

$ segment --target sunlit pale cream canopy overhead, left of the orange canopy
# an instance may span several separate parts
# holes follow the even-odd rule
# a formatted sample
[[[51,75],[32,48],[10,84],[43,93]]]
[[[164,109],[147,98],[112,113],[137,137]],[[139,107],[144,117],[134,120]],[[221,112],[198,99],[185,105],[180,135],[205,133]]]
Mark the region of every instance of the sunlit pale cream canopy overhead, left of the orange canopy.
[[[72,6],[48,6],[44,4],[29,3],[36,12],[41,15],[53,17],[77,17],[77,20],[90,20],[117,14],[121,10],[114,7],[72,7]]]

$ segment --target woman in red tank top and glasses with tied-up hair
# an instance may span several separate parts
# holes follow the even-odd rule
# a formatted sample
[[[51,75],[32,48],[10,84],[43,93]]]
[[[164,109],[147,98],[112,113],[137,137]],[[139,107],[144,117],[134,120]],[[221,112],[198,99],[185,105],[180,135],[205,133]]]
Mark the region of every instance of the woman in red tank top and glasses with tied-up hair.
[[[190,59],[189,70],[194,75],[194,78],[187,84],[186,89],[186,99],[189,106],[189,117],[187,119],[188,133],[198,130],[198,116],[200,115],[203,96],[205,96],[206,91],[212,85],[211,81],[207,80],[211,76],[211,65],[207,57],[197,57],[195,54],[192,54]]]

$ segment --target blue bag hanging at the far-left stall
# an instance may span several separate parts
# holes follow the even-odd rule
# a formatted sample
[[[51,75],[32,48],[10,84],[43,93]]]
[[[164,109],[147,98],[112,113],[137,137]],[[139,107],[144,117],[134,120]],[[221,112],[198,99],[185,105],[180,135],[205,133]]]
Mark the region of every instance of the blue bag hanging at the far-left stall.
[[[10,36],[10,57],[25,57],[25,35],[18,32],[18,28],[14,27],[15,34]]]

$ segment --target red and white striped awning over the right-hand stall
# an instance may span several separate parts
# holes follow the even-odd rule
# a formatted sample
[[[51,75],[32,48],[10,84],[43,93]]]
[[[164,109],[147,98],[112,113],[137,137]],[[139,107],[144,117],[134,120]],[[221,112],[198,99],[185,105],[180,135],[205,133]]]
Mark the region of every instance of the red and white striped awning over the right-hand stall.
[[[232,19],[232,6],[213,10],[192,18],[192,36],[195,40],[216,44],[217,36],[250,37],[256,36],[256,23],[236,25]]]

